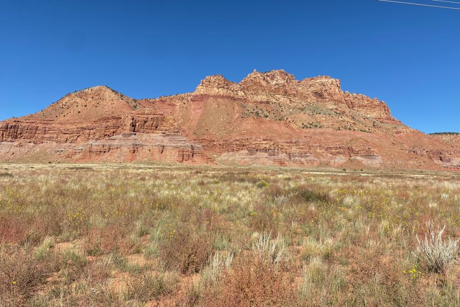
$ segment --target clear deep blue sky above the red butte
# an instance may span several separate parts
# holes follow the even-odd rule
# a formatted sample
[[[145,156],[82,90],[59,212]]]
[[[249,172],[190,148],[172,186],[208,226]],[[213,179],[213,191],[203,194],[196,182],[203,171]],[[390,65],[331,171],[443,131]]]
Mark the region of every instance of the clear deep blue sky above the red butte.
[[[458,10],[374,0],[0,0],[0,119],[89,86],[154,98],[254,69],[330,75],[344,91],[385,100],[412,127],[460,131]]]

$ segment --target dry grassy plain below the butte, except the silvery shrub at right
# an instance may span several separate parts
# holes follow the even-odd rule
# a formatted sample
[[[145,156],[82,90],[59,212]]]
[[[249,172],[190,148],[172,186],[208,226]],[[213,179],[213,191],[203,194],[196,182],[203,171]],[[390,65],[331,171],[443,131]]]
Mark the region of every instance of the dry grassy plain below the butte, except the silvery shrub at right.
[[[448,172],[0,165],[0,306],[460,306]]]

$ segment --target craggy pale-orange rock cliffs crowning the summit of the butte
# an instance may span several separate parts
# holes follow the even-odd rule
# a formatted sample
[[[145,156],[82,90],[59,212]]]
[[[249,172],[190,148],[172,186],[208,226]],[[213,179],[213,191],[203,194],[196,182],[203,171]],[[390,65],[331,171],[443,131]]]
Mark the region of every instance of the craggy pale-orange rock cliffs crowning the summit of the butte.
[[[194,99],[220,96],[293,106],[319,104],[328,109],[350,108],[375,119],[394,120],[383,101],[361,94],[343,93],[338,79],[320,76],[298,81],[283,70],[267,73],[254,71],[240,83],[228,81],[221,75],[206,77],[194,94]]]

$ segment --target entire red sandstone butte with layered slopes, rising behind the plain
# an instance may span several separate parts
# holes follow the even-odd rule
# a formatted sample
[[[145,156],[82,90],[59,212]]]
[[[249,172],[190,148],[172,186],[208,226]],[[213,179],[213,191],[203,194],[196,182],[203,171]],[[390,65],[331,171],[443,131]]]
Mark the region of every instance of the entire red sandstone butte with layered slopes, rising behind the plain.
[[[68,94],[0,122],[0,161],[460,170],[460,138],[412,129],[383,101],[343,92],[331,77],[254,71],[156,99],[107,86]]]

